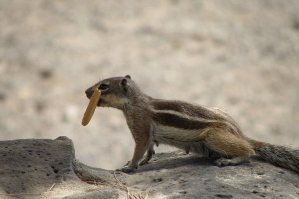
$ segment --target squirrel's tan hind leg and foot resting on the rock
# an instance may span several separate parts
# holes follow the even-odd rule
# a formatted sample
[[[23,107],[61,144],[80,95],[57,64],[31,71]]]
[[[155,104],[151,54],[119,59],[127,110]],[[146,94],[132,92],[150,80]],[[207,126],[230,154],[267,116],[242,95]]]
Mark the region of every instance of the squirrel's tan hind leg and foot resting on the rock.
[[[252,146],[243,138],[230,132],[213,131],[204,137],[206,147],[217,152],[221,158],[215,161],[217,166],[238,165],[255,155]]]

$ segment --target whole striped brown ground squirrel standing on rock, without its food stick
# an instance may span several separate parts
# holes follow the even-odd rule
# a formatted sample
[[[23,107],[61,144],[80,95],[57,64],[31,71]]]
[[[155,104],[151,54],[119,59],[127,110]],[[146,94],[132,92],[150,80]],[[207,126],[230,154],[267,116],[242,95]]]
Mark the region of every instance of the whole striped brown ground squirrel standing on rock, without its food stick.
[[[154,145],[161,143],[187,154],[219,158],[214,162],[217,166],[238,165],[255,156],[299,172],[299,149],[248,138],[237,122],[219,108],[153,99],[130,75],[100,81],[85,91],[87,98],[96,88],[101,90],[97,106],[122,110],[136,143],[132,160],[117,171],[129,173],[147,164],[154,155]]]

